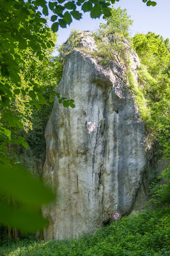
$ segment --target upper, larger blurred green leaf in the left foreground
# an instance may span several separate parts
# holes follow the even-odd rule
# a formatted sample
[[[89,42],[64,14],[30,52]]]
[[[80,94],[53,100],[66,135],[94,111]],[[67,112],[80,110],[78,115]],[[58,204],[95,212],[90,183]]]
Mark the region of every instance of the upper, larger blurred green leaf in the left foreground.
[[[1,193],[27,205],[41,206],[54,200],[54,194],[40,180],[19,164],[8,166],[0,162]]]

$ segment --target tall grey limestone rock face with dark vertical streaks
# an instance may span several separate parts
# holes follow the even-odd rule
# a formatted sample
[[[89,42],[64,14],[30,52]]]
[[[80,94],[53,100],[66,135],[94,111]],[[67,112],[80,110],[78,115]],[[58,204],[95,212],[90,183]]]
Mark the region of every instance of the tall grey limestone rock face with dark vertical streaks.
[[[135,72],[137,55],[130,58]],[[122,216],[132,210],[147,159],[144,124],[124,81],[118,62],[104,67],[80,50],[65,59],[57,91],[75,108],[55,101],[45,132],[43,177],[58,191],[58,202],[43,210],[45,240],[96,230],[112,219],[115,203]]]

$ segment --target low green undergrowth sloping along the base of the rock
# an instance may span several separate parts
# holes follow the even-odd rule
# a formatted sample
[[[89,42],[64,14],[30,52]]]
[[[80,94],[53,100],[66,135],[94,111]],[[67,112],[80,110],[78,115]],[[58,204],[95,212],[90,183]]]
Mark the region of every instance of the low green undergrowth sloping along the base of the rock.
[[[4,241],[4,256],[168,256],[170,255],[169,207],[146,210],[100,228],[78,239],[36,242]]]

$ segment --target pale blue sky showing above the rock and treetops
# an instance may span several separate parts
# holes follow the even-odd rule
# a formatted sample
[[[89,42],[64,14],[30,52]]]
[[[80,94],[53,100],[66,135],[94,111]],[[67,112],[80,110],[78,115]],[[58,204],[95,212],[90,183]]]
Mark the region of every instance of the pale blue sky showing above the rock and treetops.
[[[170,38],[170,0],[155,0],[156,6],[146,6],[142,0],[120,0],[114,4],[114,8],[127,9],[128,15],[134,21],[131,28],[132,36],[135,33],[155,32],[162,35],[165,39]],[[91,19],[89,13],[84,13],[80,21],[73,19],[67,28],[59,28],[58,44],[63,44],[73,29],[81,31],[97,31],[100,22],[104,19]],[[58,51],[54,53],[58,55]]]

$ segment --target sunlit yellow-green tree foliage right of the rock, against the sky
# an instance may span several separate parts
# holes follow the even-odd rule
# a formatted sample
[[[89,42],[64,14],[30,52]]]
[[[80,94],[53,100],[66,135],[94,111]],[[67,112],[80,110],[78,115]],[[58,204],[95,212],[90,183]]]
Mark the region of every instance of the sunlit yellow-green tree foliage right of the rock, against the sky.
[[[139,89],[150,108],[150,120],[144,118],[144,121],[152,140],[157,139],[163,145],[170,132],[170,79],[166,73],[170,65],[168,40],[151,32],[137,34],[133,40],[141,62],[137,71]]]

